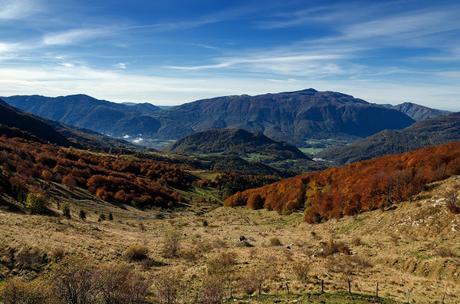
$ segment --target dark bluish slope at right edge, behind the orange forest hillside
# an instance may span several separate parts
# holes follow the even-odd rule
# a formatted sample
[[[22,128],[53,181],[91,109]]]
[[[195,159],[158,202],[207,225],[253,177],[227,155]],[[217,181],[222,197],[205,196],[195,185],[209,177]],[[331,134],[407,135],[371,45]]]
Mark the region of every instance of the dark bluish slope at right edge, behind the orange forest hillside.
[[[453,141],[460,141],[460,112],[423,120],[403,130],[382,131],[348,146],[322,151],[316,156],[345,164]]]

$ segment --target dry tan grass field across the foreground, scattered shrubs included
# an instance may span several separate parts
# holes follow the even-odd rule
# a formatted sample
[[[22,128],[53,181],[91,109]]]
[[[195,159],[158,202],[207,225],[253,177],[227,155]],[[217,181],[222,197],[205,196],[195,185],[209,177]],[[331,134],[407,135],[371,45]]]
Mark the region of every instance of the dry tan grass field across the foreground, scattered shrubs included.
[[[139,211],[84,192],[62,195],[51,207],[60,213],[68,204],[71,219],[0,211],[0,278],[46,276],[63,256],[78,256],[132,265],[153,283],[152,299],[169,275],[189,303],[215,277],[229,303],[460,303],[460,215],[441,195],[458,182],[435,184],[392,210],[316,225],[301,213],[219,205]],[[29,267],[8,267],[8,256],[21,253],[31,256]],[[44,255],[47,262],[34,265]],[[372,297],[377,284],[380,300]]]

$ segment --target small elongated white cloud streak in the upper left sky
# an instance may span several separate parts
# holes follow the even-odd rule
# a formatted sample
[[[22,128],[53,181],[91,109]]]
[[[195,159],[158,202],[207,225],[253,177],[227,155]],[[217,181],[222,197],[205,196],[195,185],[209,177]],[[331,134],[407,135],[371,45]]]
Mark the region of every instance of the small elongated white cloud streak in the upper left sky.
[[[48,46],[72,45],[111,35],[113,35],[113,31],[109,28],[79,28],[46,34],[42,39],[42,43]]]

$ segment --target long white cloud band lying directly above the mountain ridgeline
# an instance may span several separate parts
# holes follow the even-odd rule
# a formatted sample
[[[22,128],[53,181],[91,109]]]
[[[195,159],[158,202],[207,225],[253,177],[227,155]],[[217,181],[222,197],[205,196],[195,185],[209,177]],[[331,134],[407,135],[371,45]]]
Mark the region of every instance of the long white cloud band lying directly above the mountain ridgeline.
[[[70,70],[69,70],[70,69]],[[95,86],[94,84],[97,83]],[[0,68],[0,96],[42,94],[47,96],[85,93],[123,102],[147,101],[173,105],[201,98],[234,94],[262,94],[313,87],[339,91],[370,102],[413,101],[426,106],[460,110],[460,87],[363,80],[266,79],[256,77],[160,77],[120,73],[85,66]]]

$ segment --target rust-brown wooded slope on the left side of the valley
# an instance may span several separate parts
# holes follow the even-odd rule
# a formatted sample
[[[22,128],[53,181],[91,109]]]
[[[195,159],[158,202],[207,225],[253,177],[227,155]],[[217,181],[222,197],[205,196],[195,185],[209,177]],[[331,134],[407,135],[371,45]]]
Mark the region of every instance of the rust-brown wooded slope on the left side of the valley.
[[[114,156],[41,144],[20,138],[0,137],[0,163],[8,177],[3,191],[22,201],[24,193],[42,187],[35,179],[55,182],[70,188],[89,190],[104,201],[135,207],[171,207],[183,199],[171,190],[184,188],[192,178],[176,165],[136,156]],[[43,213],[44,204],[32,212]],[[29,203],[28,203],[29,205]]]

